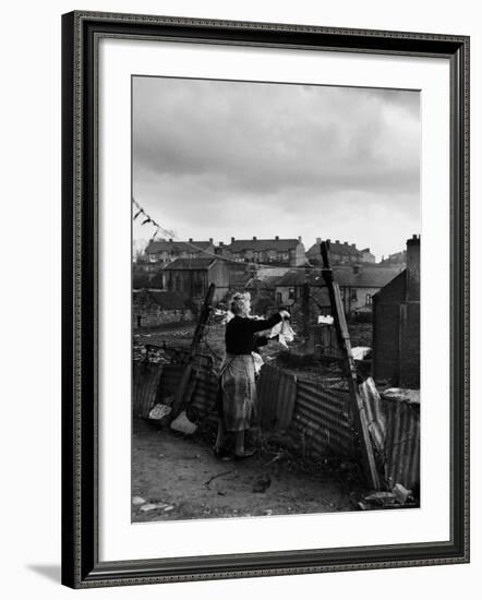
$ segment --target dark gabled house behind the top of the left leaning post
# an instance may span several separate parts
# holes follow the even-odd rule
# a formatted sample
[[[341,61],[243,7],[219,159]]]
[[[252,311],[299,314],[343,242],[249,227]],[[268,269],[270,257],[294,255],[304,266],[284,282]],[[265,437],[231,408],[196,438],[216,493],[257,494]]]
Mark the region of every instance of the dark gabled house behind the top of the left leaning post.
[[[210,284],[216,285],[216,302],[225,298],[229,289],[228,265],[215,256],[177,259],[164,268],[162,278],[164,289],[176,291],[197,304],[206,296]]]

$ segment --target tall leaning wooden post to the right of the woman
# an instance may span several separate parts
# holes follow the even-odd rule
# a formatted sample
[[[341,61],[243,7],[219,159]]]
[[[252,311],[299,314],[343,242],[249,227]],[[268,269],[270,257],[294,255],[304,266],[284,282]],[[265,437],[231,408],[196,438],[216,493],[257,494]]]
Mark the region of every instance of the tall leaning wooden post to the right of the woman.
[[[358,392],[357,367],[354,364],[353,355],[351,351],[350,335],[348,333],[347,320],[345,317],[345,309],[341,301],[340,288],[335,281],[333,271],[329,265],[328,243],[322,242],[323,257],[323,279],[328,288],[329,303],[332,305],[332,316],[334,319],[335,329],[338,337],[338,344],[344,357],[348,377],[348,388],[350,394],[350,403],[352,407],[354,427],[359,436],[361,446],[361,458],[366,478],[374,490],[379,490],[379,477],[376,469],[375,457],[373,455],[373,446],[370,440],[369,424],[366,421],[365,408],[363,400]]]

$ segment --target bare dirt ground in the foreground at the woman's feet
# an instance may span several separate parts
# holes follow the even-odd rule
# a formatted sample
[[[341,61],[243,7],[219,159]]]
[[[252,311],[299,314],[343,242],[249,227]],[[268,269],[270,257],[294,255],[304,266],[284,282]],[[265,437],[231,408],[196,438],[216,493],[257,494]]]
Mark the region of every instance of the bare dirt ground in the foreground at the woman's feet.
[[[183,437],[135,420],[132,453],[133,523],[327,513],[357,506],[358,493],[340,479],[340,471],[306,471],[276,452],[221,461],[201,437]]]

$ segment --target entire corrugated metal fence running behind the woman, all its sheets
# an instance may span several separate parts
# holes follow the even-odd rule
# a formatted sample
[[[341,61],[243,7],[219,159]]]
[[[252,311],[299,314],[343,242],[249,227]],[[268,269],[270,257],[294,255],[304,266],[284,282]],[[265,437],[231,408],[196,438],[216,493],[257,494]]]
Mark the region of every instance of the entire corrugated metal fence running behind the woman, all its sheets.
[[[133,412],[146,418],[156,401],[172,396],[183,371],[180,363],[134,363]],[[188,415],[201,428],[216,421],[217,376],[200,360]],[[361,387],[373,446],[387,488],[420,480],[420,407],[403,399],[382,399],[371,380]],[[306,458],[353,457],[356,434],[348,387],[339,376],[300,376],[265,364],[257,382],[260,422],[264,432],[282,431]]]

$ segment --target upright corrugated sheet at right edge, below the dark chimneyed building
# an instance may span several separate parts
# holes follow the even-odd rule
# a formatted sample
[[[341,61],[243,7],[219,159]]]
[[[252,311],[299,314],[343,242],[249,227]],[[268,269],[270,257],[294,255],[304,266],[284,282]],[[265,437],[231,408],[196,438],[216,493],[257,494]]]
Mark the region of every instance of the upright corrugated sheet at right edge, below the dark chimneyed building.
[[[387,488],[401,483],[420,485],[420,405],[402,399],[383,399],[387,419],[385,473]]]

